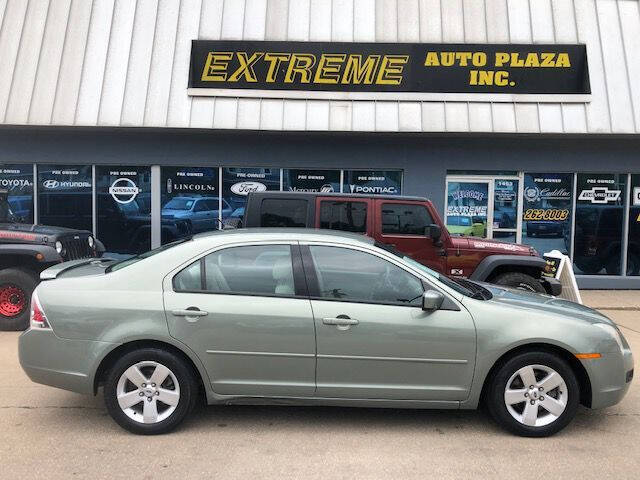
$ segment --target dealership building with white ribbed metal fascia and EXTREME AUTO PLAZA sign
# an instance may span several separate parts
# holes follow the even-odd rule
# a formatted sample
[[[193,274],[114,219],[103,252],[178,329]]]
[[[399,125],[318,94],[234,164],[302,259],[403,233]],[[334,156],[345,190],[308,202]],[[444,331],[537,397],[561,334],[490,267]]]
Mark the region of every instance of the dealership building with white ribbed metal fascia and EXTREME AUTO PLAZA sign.
[[[145,251],[251,191],[430,198],[640,288],[637,0],[0,1],[13,220]]]

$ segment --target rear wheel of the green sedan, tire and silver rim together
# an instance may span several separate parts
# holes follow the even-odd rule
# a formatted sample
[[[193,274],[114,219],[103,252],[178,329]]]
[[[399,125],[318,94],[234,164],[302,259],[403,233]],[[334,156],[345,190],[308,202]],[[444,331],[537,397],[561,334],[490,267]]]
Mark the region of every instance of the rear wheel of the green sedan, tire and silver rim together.
[[[142,435],[176,428],[192,410],[198,385],[188,365],[158,348],[129,352],[110,369],[104,387],[109,414]]]

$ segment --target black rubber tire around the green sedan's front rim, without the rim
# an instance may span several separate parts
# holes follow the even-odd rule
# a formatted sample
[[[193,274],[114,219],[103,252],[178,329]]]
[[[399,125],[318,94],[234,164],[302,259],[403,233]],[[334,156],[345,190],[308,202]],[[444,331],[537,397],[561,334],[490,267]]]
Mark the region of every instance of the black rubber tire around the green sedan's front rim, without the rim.
[[[562,414],[544,426],[520,423],[507,410],[505,388],[512,375],[527,365],[543,365],[560,374],[567,387],[567,402]],[[526,388],[526,387],[525,387]],[[527,352],[517,355],[502,365],[491,379],[485,403],[491,417],[504,429],[523,437],[548,437],[566,427],[575,417],[580,403],[580,386],[571,367],[562,358],[548,352]]]

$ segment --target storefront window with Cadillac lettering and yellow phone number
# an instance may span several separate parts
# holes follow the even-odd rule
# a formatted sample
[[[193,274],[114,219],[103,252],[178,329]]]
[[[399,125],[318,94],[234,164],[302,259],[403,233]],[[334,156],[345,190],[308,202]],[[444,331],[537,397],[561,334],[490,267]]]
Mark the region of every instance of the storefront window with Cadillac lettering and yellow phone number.
[[[522,239],[538,252],[569,254],[573,174],[525,173]]]

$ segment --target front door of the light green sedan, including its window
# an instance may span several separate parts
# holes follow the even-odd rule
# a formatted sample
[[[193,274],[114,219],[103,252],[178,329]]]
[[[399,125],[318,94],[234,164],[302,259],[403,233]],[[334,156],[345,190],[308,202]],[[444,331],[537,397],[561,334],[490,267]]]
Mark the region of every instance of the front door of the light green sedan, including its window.
[[[301,245],[316,324],[317,396],[460,401],[475,362],[470,314],[447,298],[423,311],[424,283],[381,254]]]

